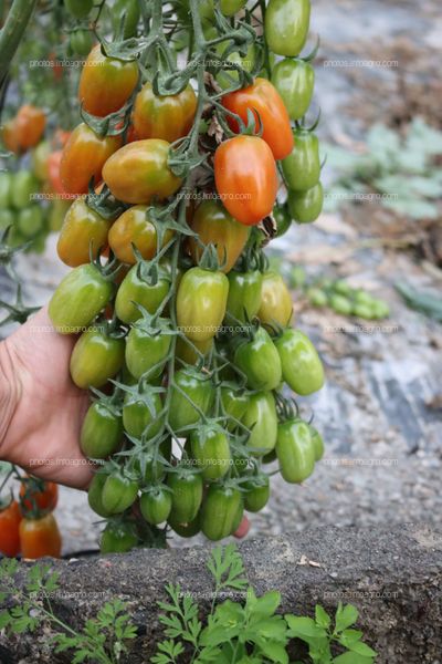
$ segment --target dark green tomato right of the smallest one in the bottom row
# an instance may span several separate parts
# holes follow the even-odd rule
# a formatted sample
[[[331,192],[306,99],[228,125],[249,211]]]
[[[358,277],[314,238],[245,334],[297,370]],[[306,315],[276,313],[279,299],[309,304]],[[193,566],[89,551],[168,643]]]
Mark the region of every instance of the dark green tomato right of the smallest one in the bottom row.
[[[181,466],[169,473],[167,484],[172,491],[172,509],[170,517],[178,523],[193,521],[202,502],[202,478],[198,473]]]

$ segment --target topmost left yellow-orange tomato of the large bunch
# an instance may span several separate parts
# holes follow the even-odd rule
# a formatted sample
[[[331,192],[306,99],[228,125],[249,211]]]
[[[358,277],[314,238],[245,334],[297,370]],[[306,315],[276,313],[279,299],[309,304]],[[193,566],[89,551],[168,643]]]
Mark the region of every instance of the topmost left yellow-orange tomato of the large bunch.
[[[127,102],[138,81],[135,60],[124,62],[107,58],[101,44],[94,46],[80,77],[78,98],[92,115],[104,117],[118,111]]]

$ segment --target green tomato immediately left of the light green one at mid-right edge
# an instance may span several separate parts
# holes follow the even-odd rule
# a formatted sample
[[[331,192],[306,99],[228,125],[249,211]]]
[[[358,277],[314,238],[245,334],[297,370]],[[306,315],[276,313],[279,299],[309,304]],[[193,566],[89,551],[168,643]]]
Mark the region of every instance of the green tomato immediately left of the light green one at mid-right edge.
[[[238,346],[235,365],[245,374],[252,390],[275,390],[282,380],[281,360],[266,330],[259,328],[252,341]]]

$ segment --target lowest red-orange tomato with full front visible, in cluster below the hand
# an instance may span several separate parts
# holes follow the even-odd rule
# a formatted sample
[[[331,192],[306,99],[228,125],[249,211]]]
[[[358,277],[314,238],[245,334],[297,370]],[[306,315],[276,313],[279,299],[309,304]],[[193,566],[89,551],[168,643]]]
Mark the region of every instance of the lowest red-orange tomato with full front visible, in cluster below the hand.
[[[35,560],[45,556],[60,558],[62,538],[52,513],[20,522],[20,548],[23,558]]]

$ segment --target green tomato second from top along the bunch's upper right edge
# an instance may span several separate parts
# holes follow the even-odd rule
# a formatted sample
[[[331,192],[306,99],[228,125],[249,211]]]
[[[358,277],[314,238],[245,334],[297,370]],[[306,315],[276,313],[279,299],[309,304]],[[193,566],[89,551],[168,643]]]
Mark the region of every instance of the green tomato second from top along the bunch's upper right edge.
[[[272,83],[292,120],[301,120],[312,103],[315,70],[304,60],[281,60],[272,71]]]

